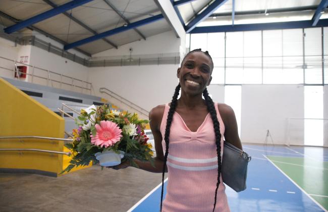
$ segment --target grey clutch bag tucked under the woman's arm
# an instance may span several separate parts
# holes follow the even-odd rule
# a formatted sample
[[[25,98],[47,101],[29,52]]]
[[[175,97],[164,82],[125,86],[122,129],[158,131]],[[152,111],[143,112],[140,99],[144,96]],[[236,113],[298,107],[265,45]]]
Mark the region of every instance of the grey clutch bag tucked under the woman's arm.
[[[223,182],[237,192],[245,190],[247,165],[250,161],[251,156],[246,152],[224,141],[221,164]]]

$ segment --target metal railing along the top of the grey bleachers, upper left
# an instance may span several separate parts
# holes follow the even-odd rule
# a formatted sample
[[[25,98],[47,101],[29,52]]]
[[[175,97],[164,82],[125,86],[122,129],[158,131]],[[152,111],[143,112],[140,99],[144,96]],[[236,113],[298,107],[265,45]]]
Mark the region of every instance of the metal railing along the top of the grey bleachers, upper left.
[[[90,94],[93,91],[92,83],[90,83],[90,82],[87,82],[87,81],[84,81],[84,80],[80,80],[80,79],[77,79],[77,78],[74,78],[74,77],[70,77],[70,76],[67,76],[67,75],[64,75],[64,74],[59,74],[59,73],[56,73],[56,72],[53,72],[53,71],[49,71],[49,70],[46,70],[46,69],[42,69],[42,68],[39,68],[39,67],[36,67],[36,66],[32,66],[32,65],[29,65],[29,64],[17,62],[16,60],[11,60],[11,59],[4,58],[4,57],[0,57],[0,59],[14,62],[14,68],[13,69],[9,69],[9,68],[2,67],[2,66],[0,66],[0,68],[1,69],[4,69],[4,70],[16,72],[17,75],[18,75],[18,79],[19,79],[20,74],[25,74],[27,76],[31,76],[31,82],[32,83],[33,83],[34,77],[36,77],[36,78],[39,78],[39,79],[46,80],[47,86],[49,86],[49,83],[51,83],[51,87],[54,87],[53,86],[53,82],[56,82],[56,83],[59,83],[60,84],[60,88],[62,88],[62,85],[69,85],[69,86],[71,86],[71,90],[74,90],[74,88],[80,88],[80,89],[82,89],[82,92],[83,92],[83,90],[87,90],[88,92],[90,92]],[[31,67],[32,68],[32,74],[20,72],[17,69],[17,64],[22,64],[24,66]],[[35,75],[35,73],[34,73],[35,72],[35,69],[40,70],[40,71],[43,71],[43,72],[46,72],[47,77],[42,77],[42,76]],[[52,75],[58,75],[60,77],[60,81],[59,80],[55,80],[55,79],[51,79],[50,74],[52,74]],[[71,81],[71,83],[64,82],[63,81],[63,78],[69,79],[69,81]],[[80,85],[77,85],[76,82],[80,82],[82,85],[81,86]]]

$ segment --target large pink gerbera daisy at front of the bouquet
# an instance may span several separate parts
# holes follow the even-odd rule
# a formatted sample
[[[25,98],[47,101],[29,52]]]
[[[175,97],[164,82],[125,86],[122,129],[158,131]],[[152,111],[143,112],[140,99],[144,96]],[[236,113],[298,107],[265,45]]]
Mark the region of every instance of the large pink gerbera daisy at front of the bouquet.
[[[122,130],[118,125],[111,121],[101,121],[100,125],[96,124],[97,134],[91,137],[91,143],[99,146],[112,146],[117,143],[122,135]]]

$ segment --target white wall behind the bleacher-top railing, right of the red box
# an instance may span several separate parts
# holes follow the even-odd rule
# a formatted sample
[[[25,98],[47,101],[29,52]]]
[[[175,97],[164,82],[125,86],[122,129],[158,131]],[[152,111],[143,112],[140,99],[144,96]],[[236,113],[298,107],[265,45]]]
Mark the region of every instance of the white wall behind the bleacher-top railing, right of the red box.
[[[68,60],[66,58],[60,57],[58,55],[52,54],[50,52],[47,52],[46,50],[43,50],[41,48],[38,48],[36,46],[31,46],[31,57],[30,57],[30,65],[36,66],[38,68],[42,68],[45,70],[49,70],[52,72],[56,72],[58,74],[63,74],[69,77],[74,77],[80,80],[88,81],[88,67],[82,66],[78,63],[75,63],[71,60]],[[32,74],[32,68],[29,69],[29,73]],[[47,78],[47,72],[42,71],[40,69],[35,68],[34,74],[37,76],[42,76]],[[50,78],[52,80],[61,81],[61,76],[57,74],[50,74]],[[63,82],[68,83],[69,85],[62,84],[63,89],[68,89],[72,91],[88,93],[90,94],[90,91],[82,90],[78,87],[72,87],[72,80],[66,77],[63,77]],[[32,78],[29,78],[29,82],[32,82]],[[51,82],[47,82],[45,79],[33,78],[33,82],[41,85],[48,85],[51,86]],[[52,82],[54,87],[61,88],[60,83]],[[84,85],[83,85],[84,84]],[[85,83],[80,81],[74,81],[74,85],[78,85],[81,87],[85,87]]]

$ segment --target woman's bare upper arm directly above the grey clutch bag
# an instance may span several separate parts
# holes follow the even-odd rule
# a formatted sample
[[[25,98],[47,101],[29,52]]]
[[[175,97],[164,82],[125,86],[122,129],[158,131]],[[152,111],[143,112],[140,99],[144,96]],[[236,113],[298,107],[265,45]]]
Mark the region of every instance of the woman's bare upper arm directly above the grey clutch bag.
[[[243,149],[238,135],[238,126],[234,110],[227,104],[218,104],[218,110],[225,124],[225,140]]]

